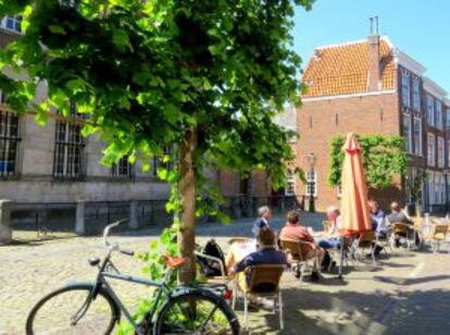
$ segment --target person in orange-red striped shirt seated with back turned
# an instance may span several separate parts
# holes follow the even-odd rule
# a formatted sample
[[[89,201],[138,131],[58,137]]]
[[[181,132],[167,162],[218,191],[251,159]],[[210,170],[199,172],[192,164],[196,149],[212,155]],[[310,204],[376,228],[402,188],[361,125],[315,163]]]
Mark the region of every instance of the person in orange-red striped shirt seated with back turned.
[[[318,277],[317,268],[320,264],[322,264],[325,256],[325,250],[315,244],[314,238],[308,232],[307,227],[300,225],[299,213],[297,211],[289,211],[286,215],[286,225],[283,227],[282,233],[279,234],[279,239],[310,243],[310,245],[300,245],[300,250],[307,260],[316,258],[317,261],[313,264],[314,269],[312,277]],[[329,264],[327,264],[326,268],[328,268],[328,265]]]

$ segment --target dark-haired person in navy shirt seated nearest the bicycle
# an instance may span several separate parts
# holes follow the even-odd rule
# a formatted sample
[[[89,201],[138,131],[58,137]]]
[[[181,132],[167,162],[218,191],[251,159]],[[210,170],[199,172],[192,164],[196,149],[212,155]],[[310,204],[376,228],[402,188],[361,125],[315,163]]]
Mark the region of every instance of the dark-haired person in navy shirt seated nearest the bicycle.
[[[258,235],[258,243],[260,249],[253,251],[239,261],[236,265],[229,269],[228,274],[235,275],[242,272],[248,266],[264,265],[264,264],[283,264],[288,265],[286,255],[283,251],[276,250],[275,232],[271,228],[261,228]],[[249,284],[250,276],[246,277],[246,284]]]

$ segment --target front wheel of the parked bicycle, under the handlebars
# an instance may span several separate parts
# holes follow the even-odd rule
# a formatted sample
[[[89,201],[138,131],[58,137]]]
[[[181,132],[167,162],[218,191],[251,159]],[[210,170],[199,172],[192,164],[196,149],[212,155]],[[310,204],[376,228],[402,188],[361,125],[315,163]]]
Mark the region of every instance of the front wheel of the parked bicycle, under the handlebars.
[[[120,310],[102,289],[92,298],[93,285],[62,287],[40,299],[26,321],[26,334],[111,334]]]

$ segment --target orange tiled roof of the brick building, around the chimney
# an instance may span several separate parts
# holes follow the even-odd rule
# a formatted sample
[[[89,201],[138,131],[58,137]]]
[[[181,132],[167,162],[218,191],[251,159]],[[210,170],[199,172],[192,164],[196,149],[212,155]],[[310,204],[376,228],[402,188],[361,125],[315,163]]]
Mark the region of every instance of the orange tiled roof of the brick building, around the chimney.
[[[392,89],[395,65],[392,47],[380,38],[379,55],[382,89]],[[367,91],[368,42],[357,41],[317,48],[311,58],[303,83],[308,90],[304,98],[351,95]]]

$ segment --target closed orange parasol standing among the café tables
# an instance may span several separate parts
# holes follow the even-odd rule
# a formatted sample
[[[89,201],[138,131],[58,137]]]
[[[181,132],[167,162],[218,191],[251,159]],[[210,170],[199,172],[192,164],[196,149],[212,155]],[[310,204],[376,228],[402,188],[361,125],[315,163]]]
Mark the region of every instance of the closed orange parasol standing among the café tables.
[[[354,236],[371,231],[372,226],[361,147],[353,133],[347,135],[343,150],[346,156],[342,165],[339,232],[341,236]]]

